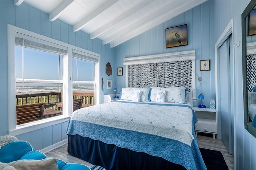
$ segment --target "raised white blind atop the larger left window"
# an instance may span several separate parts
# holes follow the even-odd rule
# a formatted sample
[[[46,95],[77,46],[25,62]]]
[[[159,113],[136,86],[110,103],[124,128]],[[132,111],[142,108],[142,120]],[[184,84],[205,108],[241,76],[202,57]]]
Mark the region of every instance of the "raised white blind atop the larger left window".
[[[25,38],[22,37],[15,37],[15,45],[20,45],[23,47],[31,48],[31,49],[36,49],[40,51],[46,51],[50,53],[56,53],[60,55],[67,55],[68,53],[68,48],[63,47],[61,45],[57,45],[54,43],[50,43],[48,41],[43,41],[40,39],[36,39],[34,37],[30,37],[25,35]],[[31,40],[33,39],[33,40]]]

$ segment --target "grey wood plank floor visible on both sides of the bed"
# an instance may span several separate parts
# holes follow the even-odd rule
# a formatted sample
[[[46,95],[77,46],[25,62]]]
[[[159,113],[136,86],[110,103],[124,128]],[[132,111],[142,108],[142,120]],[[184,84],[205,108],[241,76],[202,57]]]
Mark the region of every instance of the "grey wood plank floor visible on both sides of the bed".
[[[220,152],[222,152],[222,155],[224,156],[224,159],[226,161],[226,164],[228,165],[229,170],[234,170],[234,158],[232,155],[230,155],[228,153],[222,140],[212,139],[211,135],[205,135],[205,134],[201,134],[201,133],[198,133],[198,136],[196,139],[198,141],[198,147],[212,149],[212,150],[219,150]],[[92,164],[90,164],[84,160],[78,159],[78,158],[68,154],[67,146],[68,146],[68,144],[63,145],[62,147],[59,147],[57,149],[54,149],[54,150],[46,153],[46,156],[55,157],[55,158],[64,160],[69,163],[85,164],[89,167],[93,166]]]

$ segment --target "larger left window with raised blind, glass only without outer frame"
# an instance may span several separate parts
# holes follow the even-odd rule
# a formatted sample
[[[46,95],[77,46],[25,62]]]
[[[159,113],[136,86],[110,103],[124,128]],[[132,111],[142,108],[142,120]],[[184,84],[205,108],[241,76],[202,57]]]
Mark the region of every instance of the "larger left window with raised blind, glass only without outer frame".
[[[67,55],[67,48],[54,46],[34,37],[16,34],[17,125],[62,115],[62,104],[60,107],[58,104],[62,101],[62,58]],[[34,105],[38,103],[41,105]]]

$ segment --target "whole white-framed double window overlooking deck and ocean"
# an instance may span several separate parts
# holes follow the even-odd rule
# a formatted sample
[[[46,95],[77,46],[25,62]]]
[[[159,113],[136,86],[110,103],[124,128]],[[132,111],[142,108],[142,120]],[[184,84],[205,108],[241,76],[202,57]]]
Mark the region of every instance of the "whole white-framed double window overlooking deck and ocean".
[[[9,135],[68,121],[71,101],[77,98],[73,92],[88,91],[92,98],[86,102],[99,104],[99,63],[97,53],[8,24]],[[49,114],[17,125],[17,107],[33,103],[45,103],[44,113]]]

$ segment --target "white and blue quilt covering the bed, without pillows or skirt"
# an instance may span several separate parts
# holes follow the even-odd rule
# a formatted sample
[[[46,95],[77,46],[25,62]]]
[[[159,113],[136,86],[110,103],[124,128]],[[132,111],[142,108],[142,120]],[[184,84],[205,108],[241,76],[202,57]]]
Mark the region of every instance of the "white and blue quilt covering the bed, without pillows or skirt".
[[[194,134],[196,121],[190,104],[118,100],[74,111],[67,133],[200,170],[206,166]]]

